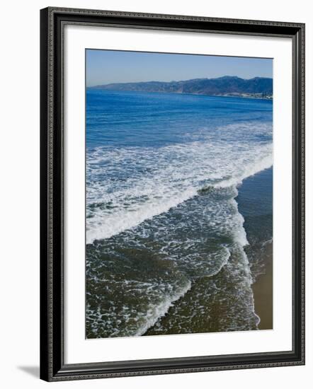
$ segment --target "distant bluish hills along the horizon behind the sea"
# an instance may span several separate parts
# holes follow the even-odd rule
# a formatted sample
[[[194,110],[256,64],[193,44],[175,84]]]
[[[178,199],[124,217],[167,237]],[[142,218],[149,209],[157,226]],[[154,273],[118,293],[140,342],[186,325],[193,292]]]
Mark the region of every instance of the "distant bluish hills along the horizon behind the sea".
[[[273,95],[273,79],[255,77],[254,79],[245,80],[235,76],[224,76],[218,79],[192,79],[171,82],[109,83],[93,86],[91,89],[271,98]]]

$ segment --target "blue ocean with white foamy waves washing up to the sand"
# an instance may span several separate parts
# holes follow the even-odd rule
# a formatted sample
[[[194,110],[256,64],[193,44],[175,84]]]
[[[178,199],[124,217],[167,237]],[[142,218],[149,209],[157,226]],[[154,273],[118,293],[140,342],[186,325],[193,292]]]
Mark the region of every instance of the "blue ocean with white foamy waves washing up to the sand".
[[[86,337],[258,329],[271,100],[86,91]]]

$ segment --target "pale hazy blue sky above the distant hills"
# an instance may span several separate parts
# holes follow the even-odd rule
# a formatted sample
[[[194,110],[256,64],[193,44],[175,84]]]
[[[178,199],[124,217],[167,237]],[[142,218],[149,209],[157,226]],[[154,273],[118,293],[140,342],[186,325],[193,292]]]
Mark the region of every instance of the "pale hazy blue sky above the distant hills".
[[[86,84],[272,77],[273,60],[193,54],[86,50]]]

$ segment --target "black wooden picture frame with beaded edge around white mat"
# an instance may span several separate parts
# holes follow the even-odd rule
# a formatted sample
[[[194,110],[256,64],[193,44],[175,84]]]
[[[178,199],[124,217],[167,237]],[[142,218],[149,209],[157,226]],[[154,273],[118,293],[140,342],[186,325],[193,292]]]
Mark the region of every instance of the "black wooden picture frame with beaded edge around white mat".
[[[66,24],[292,38],[290,352],[64,364],[63,30]],[[305,364],[305,25],[70,8],[40,11],[40,378],[79,380]]]

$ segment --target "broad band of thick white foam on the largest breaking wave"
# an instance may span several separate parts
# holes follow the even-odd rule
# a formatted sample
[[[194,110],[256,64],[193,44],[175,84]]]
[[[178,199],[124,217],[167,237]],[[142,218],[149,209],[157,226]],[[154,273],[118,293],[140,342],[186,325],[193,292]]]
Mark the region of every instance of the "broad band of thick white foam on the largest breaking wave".
[[[203,187],[230,187],[271,167],[270,143],[251,141],[249,131],[271,124],[232,124],[216,140],[159,148],[98,148],[87,153],[87,243],[106,239],[186,202]],[[219,138],[216,137],[216,138]],[[242,237],[244,243],[244,237]]]

